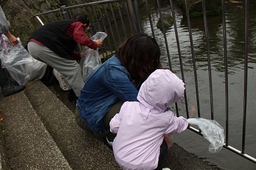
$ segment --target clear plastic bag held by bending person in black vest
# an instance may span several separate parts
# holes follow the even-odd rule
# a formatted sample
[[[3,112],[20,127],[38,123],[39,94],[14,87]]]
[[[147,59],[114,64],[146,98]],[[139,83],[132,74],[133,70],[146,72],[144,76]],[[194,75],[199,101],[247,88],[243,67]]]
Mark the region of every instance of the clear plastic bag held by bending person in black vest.
[[[91,37],[92,40],[101,39],[102,41],[107,37],[105,32],[97,32]],[[81,55],[80,66],[83,74],[83,80],[85,81],[89,74],[102,64],[98,48],[97,50],[90,49],[88,47],[83,48]]]

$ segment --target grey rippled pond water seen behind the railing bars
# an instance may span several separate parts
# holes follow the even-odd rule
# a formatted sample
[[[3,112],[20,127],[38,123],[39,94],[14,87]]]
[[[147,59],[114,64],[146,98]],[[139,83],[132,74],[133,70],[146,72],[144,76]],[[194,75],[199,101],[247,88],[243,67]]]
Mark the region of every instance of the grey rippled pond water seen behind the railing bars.
[[[241,150],[243,129],[243,88],[244,88],[244,56],[245,56],[245,1],[226,1],[227,22],[227,57],[228,57],[228,104],[229,104],[229,145]],[[151,17],[156,27],[159,19],[159,11],[156,1],[149,1],[151,6]],[[196,92],[194,81],[194,70],[191,57],[191,45],[189,41],[189,29],[187,19],[183,19],[182,13],[175,6],[175,17],[180,51],[182,55],[182,66],[184,69],[184,81],[187,90],[187,101],[189,106],[196,105]],[[249,1],[249,31],[248,31],[248,98],[247,118],[245,134],[245,153],[256,157],[255,135],[255,68],[256,68],[256,1]],[[150,24],[147,18],[146,8],[141,9],[142,25],[147,34],[151,34]],[[170,13],[170,1],[161,1],[161,10]],[[224,77],[224,41],[222,33],[222,15],[207,17],[208,37],[210,46],[210,66],[213,80],[213,112],[214,119],[225,127],[226,105],[225,105],[225,77]],[[168,69],[168,58],[163,33],[154,29],[156,41],[161,46],[161,61],[163,67]],[[210,90],[208,76],[208,57],[206,48],[206,36],[204,34],[203,17],[191,18],[191,31],[194,43],[194,55],[196,58],[196,71],[199,89],[200,113],[202,118],[210,119]],[[170,50],[170,61],[173,72],[181,78],[180,60],[175,38],[175,29],[171,27],[166,31],[168,48]],[[184,102],[178,104],[180,115],[184,115]],[[172,108],[175,109],[175,106]],[[174,110],[175,111],[175,110]],[[224,129],[225,130],[225,129]],[[225,131],[224,131],[225,132]],[[222,148],[219,153],[209,153],[210,143],[190,130],[177,134],[175,143],[182,146],[190,153],[198,155],[221,169],[256,169],[256,164],[245,158]]]

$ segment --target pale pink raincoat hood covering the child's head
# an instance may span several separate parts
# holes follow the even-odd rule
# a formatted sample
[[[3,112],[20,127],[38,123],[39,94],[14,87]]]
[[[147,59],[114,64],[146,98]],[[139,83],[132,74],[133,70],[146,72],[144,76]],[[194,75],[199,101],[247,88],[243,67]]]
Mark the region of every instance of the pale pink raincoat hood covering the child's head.
[[[142,83],[137,100],[147,108],[166,111],[184,97],[184,83],[168,69],[157,69]]]

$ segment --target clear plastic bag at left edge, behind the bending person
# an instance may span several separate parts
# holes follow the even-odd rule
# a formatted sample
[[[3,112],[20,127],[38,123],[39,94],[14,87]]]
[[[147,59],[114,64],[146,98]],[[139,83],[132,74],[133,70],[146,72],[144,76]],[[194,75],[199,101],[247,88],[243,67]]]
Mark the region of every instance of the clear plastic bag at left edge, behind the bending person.
[[[33,70],[33,60],[29,52],[23,47],[20,38],[19,43],[11,45],[4,35],[0,37],[1,66],[6,68],[11,76],[20,85],[25,85]]]

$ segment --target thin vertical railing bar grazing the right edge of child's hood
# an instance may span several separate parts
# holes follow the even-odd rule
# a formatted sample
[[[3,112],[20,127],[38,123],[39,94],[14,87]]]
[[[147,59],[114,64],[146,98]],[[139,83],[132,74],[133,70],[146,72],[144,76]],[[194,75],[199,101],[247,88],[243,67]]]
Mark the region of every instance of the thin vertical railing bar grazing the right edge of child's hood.
[[[181,69],[181,73],[182,73],[182,80],[185,83],[183,64],[182,64],[182,56],[181,56],[181,52],[180,52],[180,40],[179,40],[179,36],[178,36],[178,32],[177,32],[177,24],[176,24],[175,11],[174,11],[174,8],[173,8],[173,0],[170,0],[170,9],[171,9],[172,15],[173,15],[173,27],[175,29],[177,51],[178,51],[178,55],[179,55],[179,59],[180,59],[180,69]],[[185,85],[186,85],[186,83],[185,83]],[[186,92],[186,89],[184,90],[184,99],[185,99],[185,106],[186,106],[186,111],[187,111],[187,118],[189,118],[189,112],[188,112],[189,109],[188,109],[188,104],[187,104],[187,92]],[[177,112],[177,116],[179,116],[178,112]]]

